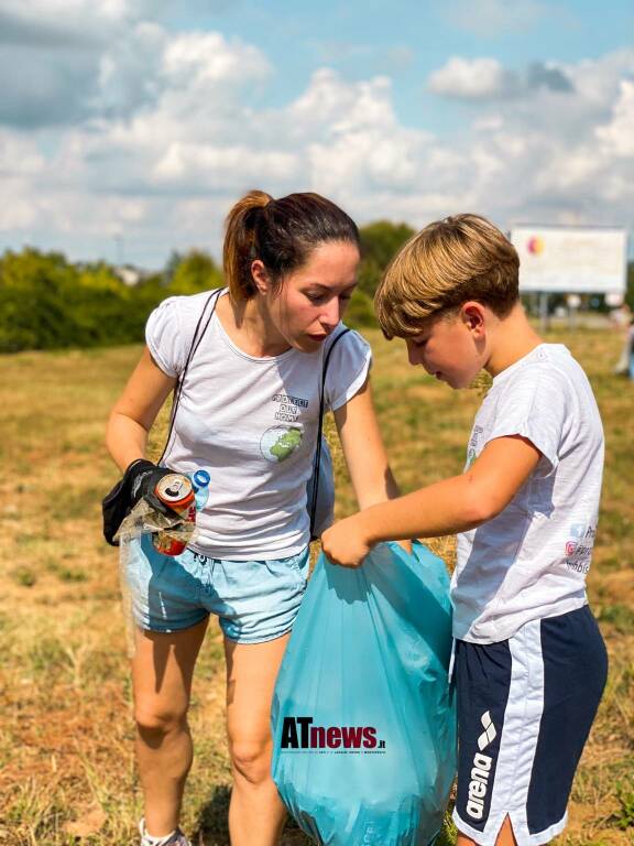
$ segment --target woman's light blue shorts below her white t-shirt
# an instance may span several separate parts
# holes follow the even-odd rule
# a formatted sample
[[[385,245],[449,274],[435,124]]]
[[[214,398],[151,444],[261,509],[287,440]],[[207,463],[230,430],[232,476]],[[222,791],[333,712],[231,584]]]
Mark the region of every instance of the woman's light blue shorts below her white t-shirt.
[[[216,614],[230,640],[262,643],[293,627],[308,565],[308,547],[289,558],[228,561],[189,549],[162,555],[143,535],[130,544],[125,577],[142,629],[179,631]]]

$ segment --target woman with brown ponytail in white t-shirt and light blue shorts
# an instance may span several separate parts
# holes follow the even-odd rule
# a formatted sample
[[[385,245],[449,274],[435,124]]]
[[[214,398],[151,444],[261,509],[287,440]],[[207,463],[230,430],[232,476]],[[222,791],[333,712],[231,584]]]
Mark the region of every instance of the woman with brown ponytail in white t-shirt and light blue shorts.
[[[133,687],[145,815],[143,846],[186,846],[177,827],[192,763],[187,709],[209,614],[227,659],[233,846],[273,846],[285,811],[271,779],[273,686],[308,575],[306,481],[317,442],[324,357],[356,286],[359,232],[317,194],[251,192],[229,213],[228,291],[187,366],[163,467],[211,478],[199,533],[182,555],[135,542],[128,578],[138,625]],[[165,469],[143,460],[209,294],[163,302],[108,427],[112,457],[138,499]],[[397,495],[353,332],[332,348],[325,405],[360,508]]]

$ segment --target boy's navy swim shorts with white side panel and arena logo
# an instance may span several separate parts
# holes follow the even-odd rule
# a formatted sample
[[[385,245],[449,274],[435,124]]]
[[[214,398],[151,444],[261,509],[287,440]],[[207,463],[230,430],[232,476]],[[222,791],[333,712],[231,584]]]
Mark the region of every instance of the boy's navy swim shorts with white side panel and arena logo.
[[[494,846],[509,816],[518,846],[548,843],[566,825],[608,675],[590,608],[532,620],[500,643],[458,640],[455,674],[458,831]]]

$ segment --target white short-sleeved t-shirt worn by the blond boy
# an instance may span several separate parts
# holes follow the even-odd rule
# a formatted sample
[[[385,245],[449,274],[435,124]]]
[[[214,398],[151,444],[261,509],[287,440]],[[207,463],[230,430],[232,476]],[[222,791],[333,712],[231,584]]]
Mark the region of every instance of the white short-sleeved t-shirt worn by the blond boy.
[[[529,620],[587,603],[603,426],[588,378],[564,345],[540,344],[493,379],[466,469],[504,435],[526,437],[542,458],[502,513],[458,535],[453,636],[473,643],[506,640]]]

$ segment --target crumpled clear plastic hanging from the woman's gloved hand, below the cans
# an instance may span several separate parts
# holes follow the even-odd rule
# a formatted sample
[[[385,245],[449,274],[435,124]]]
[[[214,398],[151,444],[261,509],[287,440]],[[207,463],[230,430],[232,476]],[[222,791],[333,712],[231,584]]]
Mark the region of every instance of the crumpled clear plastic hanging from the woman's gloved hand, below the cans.
[[[183,520],[173,512],[165,514],[157,511],[151,502],[140,499],[117,530],[114,540],[119,541],[119,584],[121,587],[121,607],[125,622],[125,641],[128,657],[134,658],[134,617],[132,614],[132,596],[128,584],[128,563],[130,561],[130,544],[143,534],[165,532],[170,538],[188,544],[196,539],[196,523]]]

